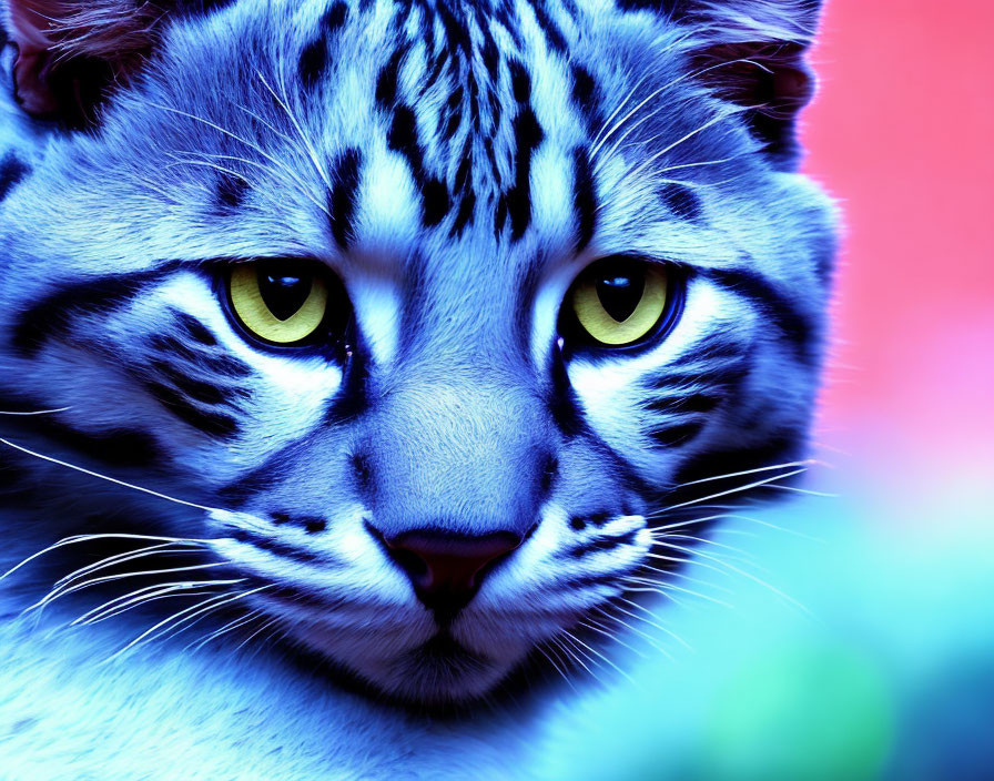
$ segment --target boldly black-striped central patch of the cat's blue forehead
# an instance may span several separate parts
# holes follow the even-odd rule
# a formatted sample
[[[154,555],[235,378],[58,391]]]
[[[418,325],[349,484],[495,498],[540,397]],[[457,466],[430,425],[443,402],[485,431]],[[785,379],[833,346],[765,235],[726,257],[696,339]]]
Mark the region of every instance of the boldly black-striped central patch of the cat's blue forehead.
[[[576,182],[589,181],[596,81],[565,57],[580,21],[576,8],[527,1],[337,0],[302,12],[295,75],[305,121],[331,148],[339,247],[575,227],[555,200],[577,200]]]

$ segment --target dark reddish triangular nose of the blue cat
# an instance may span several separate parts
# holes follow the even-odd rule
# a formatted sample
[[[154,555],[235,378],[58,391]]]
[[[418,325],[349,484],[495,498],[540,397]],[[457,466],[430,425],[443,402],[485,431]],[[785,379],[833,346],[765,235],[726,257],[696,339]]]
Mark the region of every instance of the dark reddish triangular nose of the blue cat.
[[[466,607],[494,565],[523,541],[513,531],[468,537],[417,530],[384,538],[387,552],[410,578],[418,599],[439,620],[452,619]]]

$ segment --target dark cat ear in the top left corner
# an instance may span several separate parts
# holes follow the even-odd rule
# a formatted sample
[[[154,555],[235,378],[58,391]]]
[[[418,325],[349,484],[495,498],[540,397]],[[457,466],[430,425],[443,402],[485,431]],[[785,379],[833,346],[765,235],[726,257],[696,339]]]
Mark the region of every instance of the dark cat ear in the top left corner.
[[[161,9],[142,0],[0,0],[14,93],[32,116],[83,128],[149,55]]]

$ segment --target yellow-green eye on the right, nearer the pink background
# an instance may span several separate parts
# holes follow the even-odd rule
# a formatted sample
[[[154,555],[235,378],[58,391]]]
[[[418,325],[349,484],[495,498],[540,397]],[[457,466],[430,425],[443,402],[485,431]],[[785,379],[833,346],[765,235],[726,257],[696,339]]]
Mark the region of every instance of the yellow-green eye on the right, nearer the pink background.
[[[657,329],[672,310],[666,267],[608,257],[592,264],[574,283],[567,304],[588,338],[623,347]]]

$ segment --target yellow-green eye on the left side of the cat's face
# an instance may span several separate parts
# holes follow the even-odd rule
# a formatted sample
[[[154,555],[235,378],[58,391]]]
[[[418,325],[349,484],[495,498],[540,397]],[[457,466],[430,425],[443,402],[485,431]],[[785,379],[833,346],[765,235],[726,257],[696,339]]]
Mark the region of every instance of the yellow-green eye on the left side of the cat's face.
[[[256,261],[231,270],[229,296],[242,326],[275,345],[306,342],[325,322],[328,286],[310,264]]]

